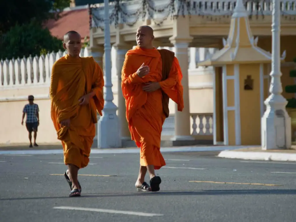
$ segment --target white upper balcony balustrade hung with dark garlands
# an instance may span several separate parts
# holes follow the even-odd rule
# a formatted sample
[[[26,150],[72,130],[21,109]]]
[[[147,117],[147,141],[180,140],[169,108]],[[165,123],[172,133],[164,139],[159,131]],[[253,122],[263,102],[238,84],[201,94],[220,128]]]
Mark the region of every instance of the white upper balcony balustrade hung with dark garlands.
[[[116,13],[118,23],[130,23],[141,20],[142,16],[150,17],[152,20],[162,20],[169,17],[171,13],[177,14],[178,11],[190,15],[232,15],[237,0],[175,0],[171,5],[171,0],[153,0],[146,2],[145,11],[143,11],[143,0],[120,1],[120,10]],[[281,13],[283,15],[296,15],[296,0],[279,0],[281,1]],[[272,3],[271,0],[244,0],[245,7],[249,15],[271,15]],[[148,5],[149,4],[149,7]],[[187,7],[187,4],[189,7]],[[116,20],[115,2],[111,2],[109,14],[114,24]],[[174,7],[174,12],[173,12]],[[181,8],[181,10],[179,10]],[[104,4],[91,5],[92,27],[104,27]],[[179,12],[179,14],[180,14]]]

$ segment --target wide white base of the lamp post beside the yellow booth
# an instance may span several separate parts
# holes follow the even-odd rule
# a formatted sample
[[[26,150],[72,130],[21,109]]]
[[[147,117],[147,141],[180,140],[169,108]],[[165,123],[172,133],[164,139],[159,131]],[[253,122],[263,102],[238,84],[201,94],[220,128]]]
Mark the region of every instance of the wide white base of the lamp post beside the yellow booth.
[[[291,148],[291,118],[285,107],[287,100],[281,95],[271,94],[265,104],[266,111],[261,118],[262,149]]]

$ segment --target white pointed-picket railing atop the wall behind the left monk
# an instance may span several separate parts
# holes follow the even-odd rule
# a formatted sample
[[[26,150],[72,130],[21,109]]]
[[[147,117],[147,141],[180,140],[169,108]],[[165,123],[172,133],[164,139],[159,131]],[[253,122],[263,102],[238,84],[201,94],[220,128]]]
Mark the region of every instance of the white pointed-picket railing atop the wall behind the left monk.
[[[49,85],[52,65],[66,52],[48,53],[45,56],[17,58],[0,61],[0,89],[18,86]],[[80,56],[89,56],[89,49],[81,50]]]

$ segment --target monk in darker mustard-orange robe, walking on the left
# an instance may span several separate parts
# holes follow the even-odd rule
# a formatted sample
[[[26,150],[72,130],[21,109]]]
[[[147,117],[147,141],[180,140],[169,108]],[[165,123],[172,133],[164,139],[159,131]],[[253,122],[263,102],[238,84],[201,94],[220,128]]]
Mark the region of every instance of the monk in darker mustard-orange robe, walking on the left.
[[[79,57],[82,45],[77,32],[67,32],[63,46],[68,54],[52,67],[51,118],[68,165],[65,178],[71,189],[69,196],[75,197],[81,194],[78,170],[89,163],[97,112],[102,116],[104,79],[93,57]]]

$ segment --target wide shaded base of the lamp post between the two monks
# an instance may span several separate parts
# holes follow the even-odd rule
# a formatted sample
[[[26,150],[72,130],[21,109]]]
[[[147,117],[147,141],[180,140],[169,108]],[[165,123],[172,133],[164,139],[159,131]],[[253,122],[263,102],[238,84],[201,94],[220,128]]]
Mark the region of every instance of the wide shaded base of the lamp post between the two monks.
[[[98,148],[118,148],[121,147],[121,135],[119,118],[116,115],[117,107],[114,103],[106,102],[103,116],[98,123]]]

